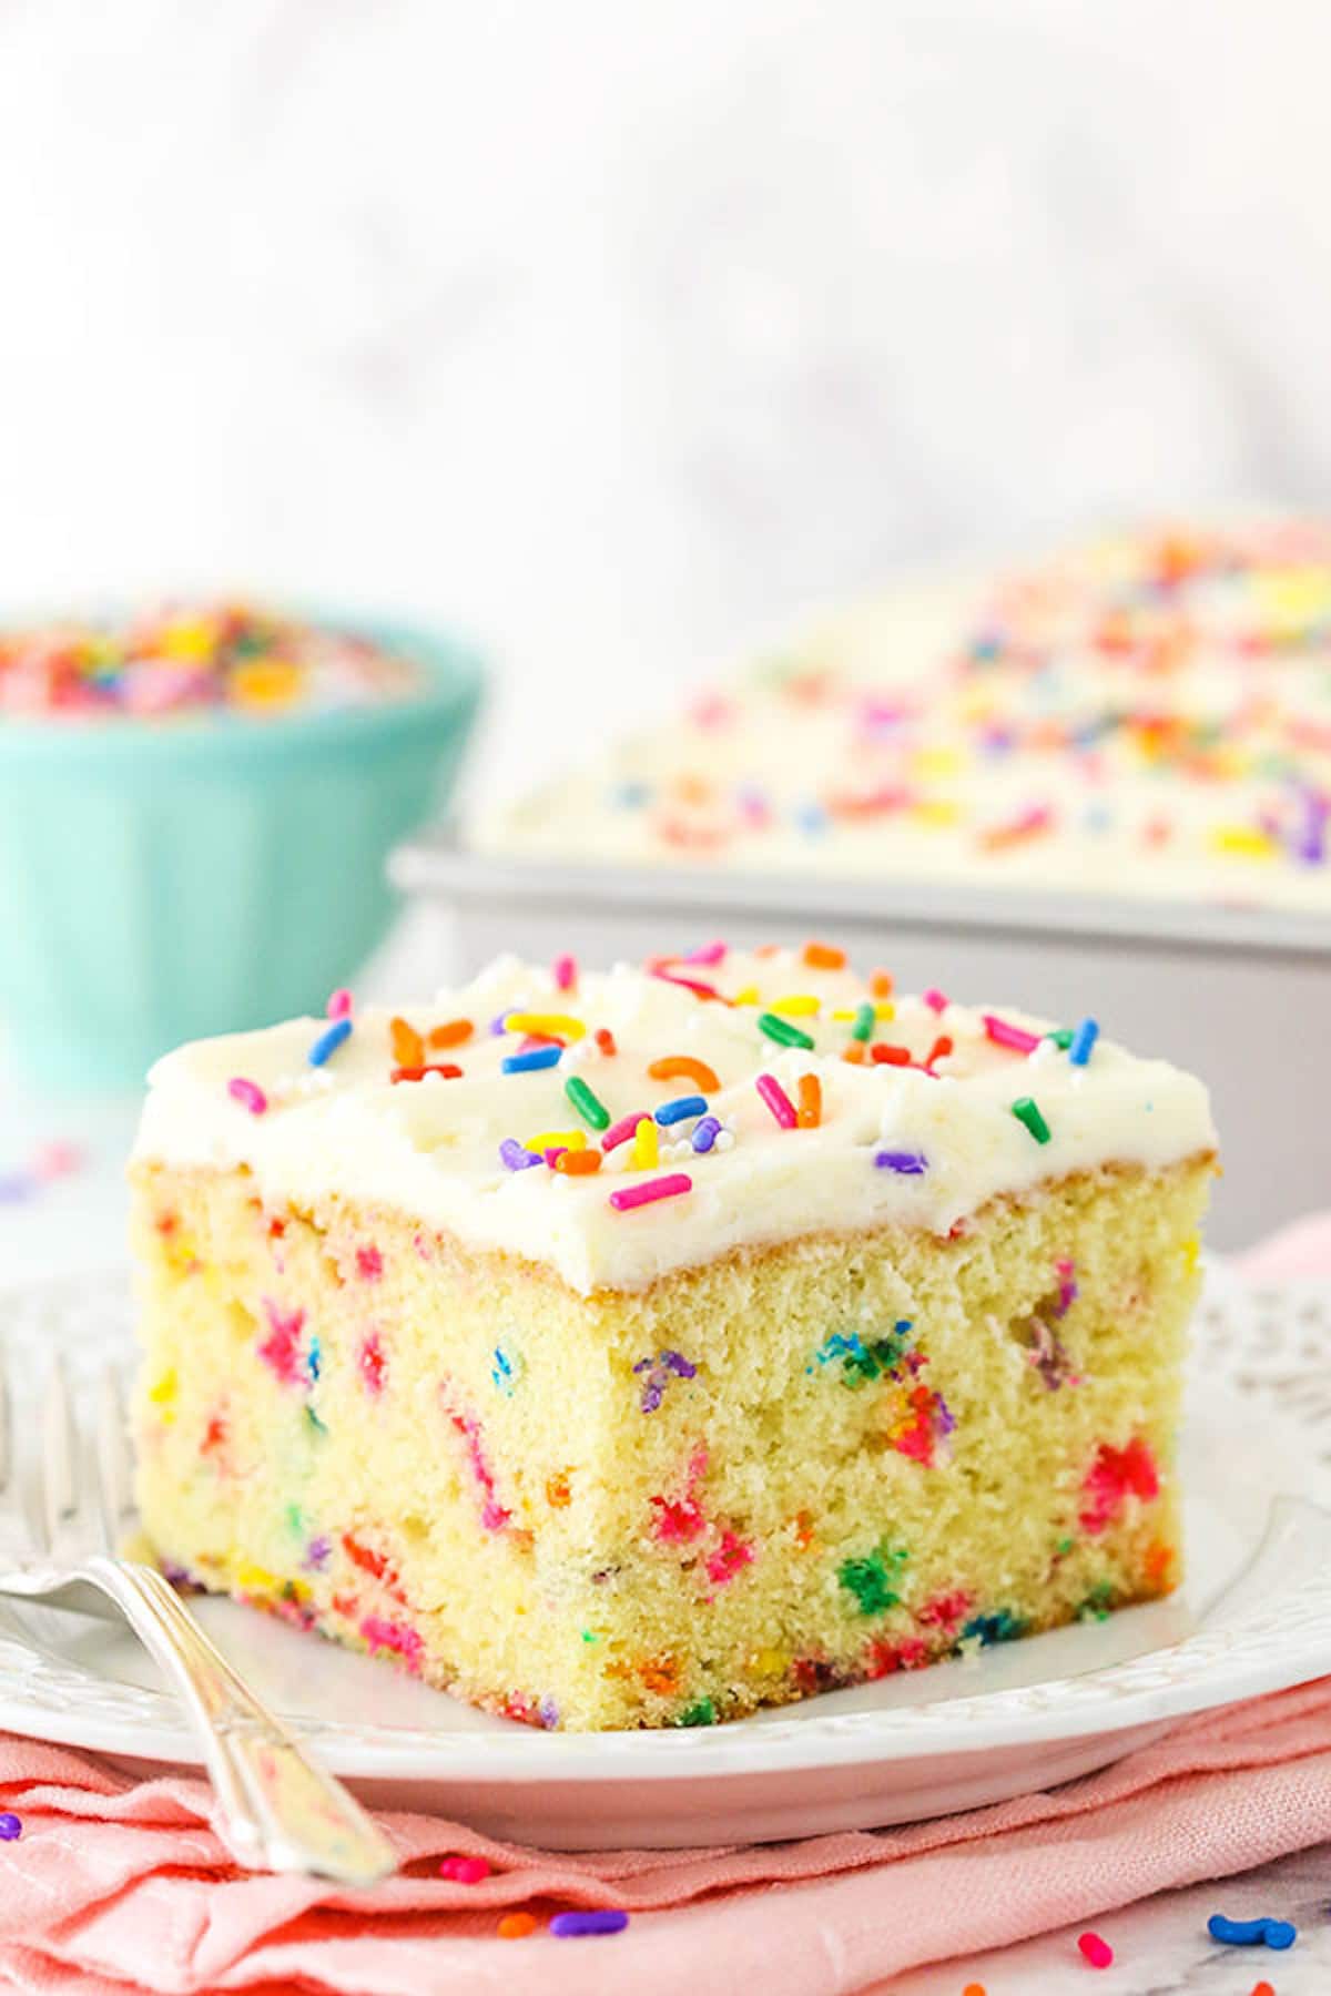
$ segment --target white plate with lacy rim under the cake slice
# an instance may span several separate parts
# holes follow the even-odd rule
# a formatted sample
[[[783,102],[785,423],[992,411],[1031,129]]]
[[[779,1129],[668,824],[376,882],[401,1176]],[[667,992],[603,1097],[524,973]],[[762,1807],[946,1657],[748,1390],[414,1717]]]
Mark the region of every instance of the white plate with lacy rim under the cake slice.
[[[18,1371],[128,1343],[120,1279],[0,1299]],[[714,1729],[537,1733],[227,1601],[200,1619],[367,1798],[549,1848],[678,1846],[910,1822],[1106,1766],[1171,1721],[1331,1671],[1331,1285],[1211,1273],[1183,1441],[1181,1595],[966,1663]],[[194,1764],[120,1629],[0,1605],[0,1727],[132,1766]]]

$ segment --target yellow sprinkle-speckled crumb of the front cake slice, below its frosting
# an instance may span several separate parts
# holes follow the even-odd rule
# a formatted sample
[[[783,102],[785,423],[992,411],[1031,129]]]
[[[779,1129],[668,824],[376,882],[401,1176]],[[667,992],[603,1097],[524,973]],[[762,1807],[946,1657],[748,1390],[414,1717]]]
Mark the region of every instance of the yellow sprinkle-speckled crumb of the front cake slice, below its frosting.
[[[140,1164],[168,1571],[549,1727],[696,1725],[1159,1595],[1211,1158],[577,1293]]]

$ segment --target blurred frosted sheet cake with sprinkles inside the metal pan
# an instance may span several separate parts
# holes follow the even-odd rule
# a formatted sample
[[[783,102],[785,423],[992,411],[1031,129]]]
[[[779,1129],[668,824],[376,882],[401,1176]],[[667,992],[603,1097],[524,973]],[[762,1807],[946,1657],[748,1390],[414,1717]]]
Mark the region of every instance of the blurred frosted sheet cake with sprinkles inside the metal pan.
[[[1331,908],[1331,525],[904,585],[483,818],[535,860]]]

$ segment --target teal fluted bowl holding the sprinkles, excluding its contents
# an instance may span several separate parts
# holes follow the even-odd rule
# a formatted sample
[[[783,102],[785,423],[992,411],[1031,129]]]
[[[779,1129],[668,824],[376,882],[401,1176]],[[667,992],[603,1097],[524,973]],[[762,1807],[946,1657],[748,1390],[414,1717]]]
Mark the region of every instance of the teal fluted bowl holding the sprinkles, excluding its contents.
[[[24,1078],[138,1086],[182,1040],[319,1012],[385,934],[387,854],[443,808],[483,671],[417,625],[311,621],[411,659],[421,691],[277,719],[0,721],[0,1022]]]

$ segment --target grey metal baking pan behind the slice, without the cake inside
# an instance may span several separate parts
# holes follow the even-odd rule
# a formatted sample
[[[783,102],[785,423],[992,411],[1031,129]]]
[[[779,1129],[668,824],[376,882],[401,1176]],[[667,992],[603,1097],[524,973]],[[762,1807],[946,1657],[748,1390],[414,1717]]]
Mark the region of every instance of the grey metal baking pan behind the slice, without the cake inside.
[[[571,866],[467,848],[453,828],[401,846],[439,976],[503,950],[635,960],[722,936],[840,942],[902,990],[1086,1014],[1135,1052],[1201,1074],[1223,1178],[1209,1238],[1239,1248],[1331,1202],[1331,916],[1135,896],[908,880]]]

